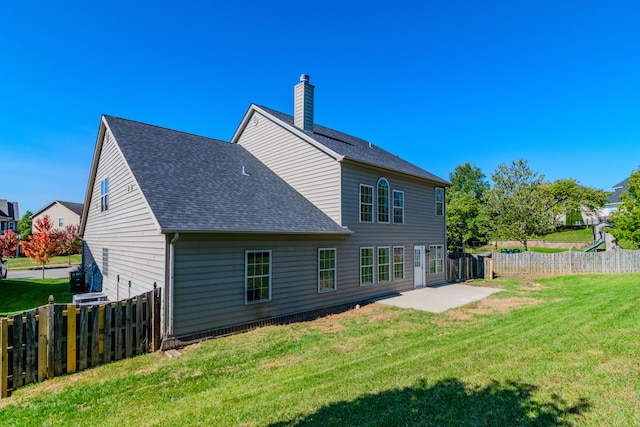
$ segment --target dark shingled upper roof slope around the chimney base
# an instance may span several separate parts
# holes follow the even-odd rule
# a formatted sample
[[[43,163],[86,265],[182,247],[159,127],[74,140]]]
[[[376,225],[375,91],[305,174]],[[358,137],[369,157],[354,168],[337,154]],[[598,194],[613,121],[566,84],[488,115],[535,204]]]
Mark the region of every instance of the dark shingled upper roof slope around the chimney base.
[[[283,122],[294,126],[293,116],[281,113],[271,108],[256,105],[256,107],[264,110],[282,120]],[[346,133],[339,132],[328,127],[313,125],[313,132],[305,131],[297,128],[299,131],[304,132],[309,137],[313,138],[316,142],[324,145],[328,149],[344,156],[345,159],[353,160],[369,165],[391,169],[394,171],[402,172],[408,175],[417,176],[420,178],[428,179],[443,185],[451,185],[448,181],[428,172],[413,163],[410,163],[393,153],[390,153],[380,147],[370,144],[364,139],[357,138],[355,136],[347,135]]]

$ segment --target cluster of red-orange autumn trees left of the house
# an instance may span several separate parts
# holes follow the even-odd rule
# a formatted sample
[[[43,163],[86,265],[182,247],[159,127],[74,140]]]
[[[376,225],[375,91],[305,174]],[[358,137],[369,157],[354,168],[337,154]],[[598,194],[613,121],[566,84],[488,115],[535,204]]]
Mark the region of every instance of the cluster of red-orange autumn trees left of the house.
[[[42,265],[43,279],[44,266],[52,256],[67,255],[71,263],[71,255],[80,253],[82,249],[82,239],[78,235],[79,227],[67,225],[61,230],[53,230],[53,222],[49,215],[36,220],[33,233],[25,233],[26,238],[23,238],[22,227],[20,231],[20,235],[13,230],[7,230],[0,235],[0,254],[8,258],[15,256],[20,249],[24,255]]]

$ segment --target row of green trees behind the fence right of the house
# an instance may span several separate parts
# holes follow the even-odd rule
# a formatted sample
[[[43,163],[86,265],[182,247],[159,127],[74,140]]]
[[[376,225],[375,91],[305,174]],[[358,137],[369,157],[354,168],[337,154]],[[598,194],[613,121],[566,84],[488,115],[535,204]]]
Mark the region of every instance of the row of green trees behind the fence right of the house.
[[[560,215],[582,218],[582,212],[598,215],[608,193],[581,185],[573,178],[545,181],[525,159],[502,163],[489,184],[486,175],[469,162],[449,174],[447,192],[447,241],[450,251],[464,250],[475,242],[515,240],[528,249],[532,236],[554,231]],[[640,245],[640,173],[632,173],[623,206],[611,221],[617,239]]]

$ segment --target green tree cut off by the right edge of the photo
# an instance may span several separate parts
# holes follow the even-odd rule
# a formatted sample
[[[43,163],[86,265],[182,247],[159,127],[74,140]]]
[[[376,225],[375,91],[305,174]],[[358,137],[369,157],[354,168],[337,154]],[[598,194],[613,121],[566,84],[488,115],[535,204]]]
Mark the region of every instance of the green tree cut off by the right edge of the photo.
[[[629,186],[620,197],[622,205],[611,214],[615,228],[609,232],[616,240],[627,240],[640,248],[640,172],[631,173]]]

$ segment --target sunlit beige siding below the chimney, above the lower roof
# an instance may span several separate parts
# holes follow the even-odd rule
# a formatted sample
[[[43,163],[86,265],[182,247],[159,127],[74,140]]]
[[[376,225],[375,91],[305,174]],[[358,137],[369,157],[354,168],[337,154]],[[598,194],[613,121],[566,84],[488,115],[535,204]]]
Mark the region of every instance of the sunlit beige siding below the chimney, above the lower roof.
[[[280,178],[341,224],[340,164],[327,154],[255,112],[238,139]]]

